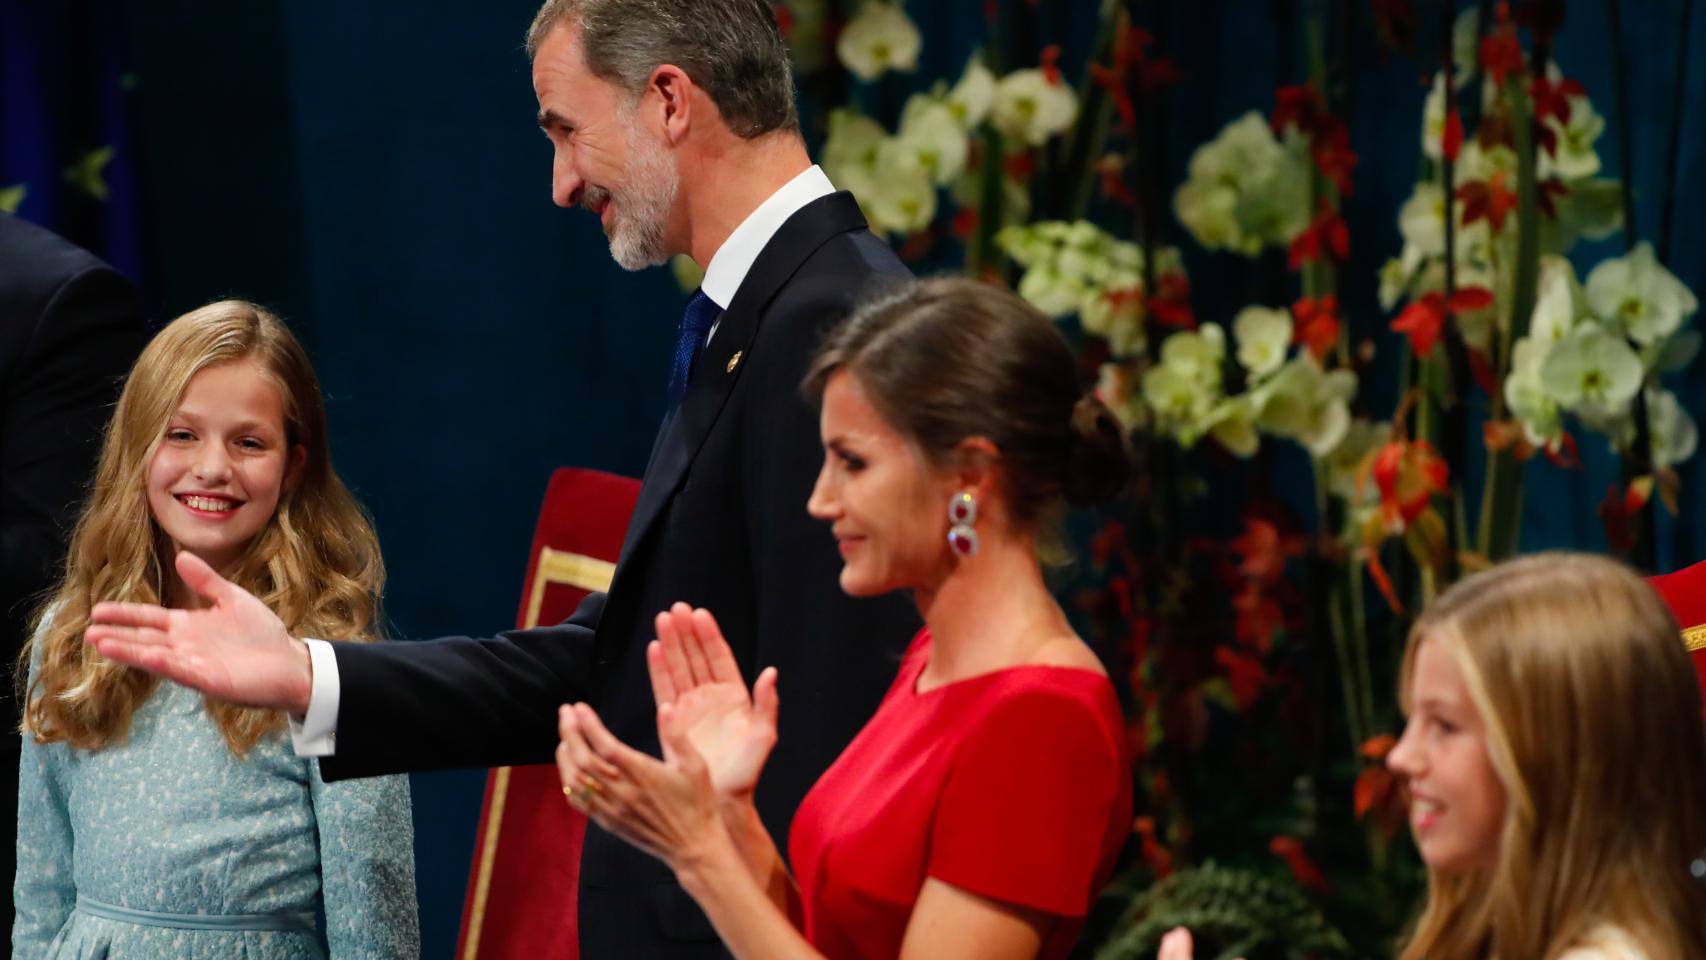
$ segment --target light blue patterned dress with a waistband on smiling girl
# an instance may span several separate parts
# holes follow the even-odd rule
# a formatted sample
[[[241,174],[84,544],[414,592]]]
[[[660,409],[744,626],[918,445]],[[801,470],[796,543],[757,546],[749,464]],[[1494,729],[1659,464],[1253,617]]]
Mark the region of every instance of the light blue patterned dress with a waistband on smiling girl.
[[[12,893],[17,960],[420,957],[408,778],[328,784],[283,733],[239,760],[164,680],[123,743],[24,737]]]

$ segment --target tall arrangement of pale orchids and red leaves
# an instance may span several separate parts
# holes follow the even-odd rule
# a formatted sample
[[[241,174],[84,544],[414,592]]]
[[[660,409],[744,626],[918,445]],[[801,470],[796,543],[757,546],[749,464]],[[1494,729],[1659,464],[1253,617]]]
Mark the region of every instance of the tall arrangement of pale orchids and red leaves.
[[[1024,29],[1046,0],[984,7],[989,41],[957,78],[913,78],[891,111],[867,94],[892,94],[925,49],[904,3],[778,10],[802,85],[839,77],[815,87],[822,165],[872,228],[1058,317],[1133,433],[1138,486],[1085,534],[1066,587],[1129,679],[1143,813],[1090,931],[1136,955],[1210,911],[1228,946],[1303,922],[1315,955],[1384,948],[1421,876],[1384,767],[1409,617],[1517,551],[1527,464],[1575,469],[1583,435],[1622,462],[1607,541],[1650,556],[1655,503],[1675,513],[1675,467],[1697,447],[1663,385],[1699,348],[1697,300],[1663,242],[1628,228],[1605,114],[1551,56],[1559,0],[1365,5],[1389,53],[1428,75],[1418,179],[1382,239],[1399,254],[1372,278],[1378,315],[1341,297],[1358,155],[1320,5],[1302,15],[1302,82],[1196,145],[1170,188],[1167,95],[1189,77],[1140,26],[1146,5],[1097,0],[1078,65]],[[1578,244],[1619,232],[1624,252],[1578,273]],[[1273,297],[1198,315],[1186,261],[1208,251],[1268,269]],[[1300,479],[1300,503],[1276,472]],[[1191,890],[1220,893],[1191,907]]]

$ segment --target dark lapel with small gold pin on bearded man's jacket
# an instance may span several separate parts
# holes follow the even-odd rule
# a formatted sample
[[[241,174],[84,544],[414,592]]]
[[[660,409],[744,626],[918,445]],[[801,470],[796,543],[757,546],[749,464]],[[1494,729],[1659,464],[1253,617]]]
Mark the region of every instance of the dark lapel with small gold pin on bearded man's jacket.
[[[669,498],[681,488],[688,467],[693,466],[705,437],[723,411],[730,390],[751,358],[764,309],[817,247],[831,237],[863,227],[865,217],[860,213],[858,203],[853,201],[853,194],[833,193],[795,211],[759,251],[752,269],[735,290],[734,302],[723,310],[711,343],[699,351],[699,358],[693,365],[688,396],[664,421],[652,464],[647,467],[640,488],[640,500],[635,503],[633,520],[628,523],[628,535],[623,539],[616,583],[611,585],[612,592],[624,580],[623,573],[628,570],[630,554],[645,539]],[[737,353],[739,360],[735,360]],[[730,363],[732,360],[735,361]]]

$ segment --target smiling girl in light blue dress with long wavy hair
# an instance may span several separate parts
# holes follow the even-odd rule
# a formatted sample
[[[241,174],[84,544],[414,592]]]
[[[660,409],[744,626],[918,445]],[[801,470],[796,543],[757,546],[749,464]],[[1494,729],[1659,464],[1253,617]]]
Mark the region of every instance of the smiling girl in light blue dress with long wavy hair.
[[[374,633],[379,542],[331,469],[302,346],[252,304],[186,314],[142,353],[24,653],[14,957],[418,957],[404,778],[328,784],[283,714],[84,643],[101,600],[205,605],[181,552],[292,633]]]

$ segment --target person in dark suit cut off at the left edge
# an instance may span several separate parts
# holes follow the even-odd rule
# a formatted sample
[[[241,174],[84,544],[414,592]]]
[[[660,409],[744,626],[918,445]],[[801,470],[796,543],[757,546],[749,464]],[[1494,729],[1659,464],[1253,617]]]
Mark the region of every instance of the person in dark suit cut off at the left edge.
[[[0,213],[0,655],[12,663],[58,578],[101,430],[142,350],[130,281],[94,254]],[[14,684],[0,691],[0,807],[17,818]],[[12,844],[0,870],[12,878]],[[12,900],[0,921],[12,928]]]

